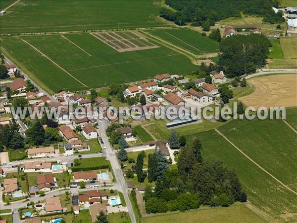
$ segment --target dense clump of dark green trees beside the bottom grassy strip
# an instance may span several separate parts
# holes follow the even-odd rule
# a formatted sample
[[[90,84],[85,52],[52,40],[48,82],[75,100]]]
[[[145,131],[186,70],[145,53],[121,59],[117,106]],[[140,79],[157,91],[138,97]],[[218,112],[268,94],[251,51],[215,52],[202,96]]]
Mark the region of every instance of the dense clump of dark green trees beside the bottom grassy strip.
[[[222,162],[204,161],[202,144],[198,138],[191,146],[180,149],[178,170],[166,170],[156,178],[156,186],[146,188],[144,199],[148,213],[185,211],[209,206],[228,206],[246,201],[234,170]],[[148,179],[150,173],[148,173]]]

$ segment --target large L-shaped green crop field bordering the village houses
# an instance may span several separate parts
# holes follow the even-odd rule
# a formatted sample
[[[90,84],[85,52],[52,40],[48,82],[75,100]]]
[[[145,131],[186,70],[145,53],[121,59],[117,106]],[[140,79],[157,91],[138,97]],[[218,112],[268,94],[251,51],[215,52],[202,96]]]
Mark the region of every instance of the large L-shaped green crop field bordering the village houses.
[[[1,49],[49,92],[103,87],[198,69],[186,56],[165,46],[117,52],[89,33],[3,37]]]

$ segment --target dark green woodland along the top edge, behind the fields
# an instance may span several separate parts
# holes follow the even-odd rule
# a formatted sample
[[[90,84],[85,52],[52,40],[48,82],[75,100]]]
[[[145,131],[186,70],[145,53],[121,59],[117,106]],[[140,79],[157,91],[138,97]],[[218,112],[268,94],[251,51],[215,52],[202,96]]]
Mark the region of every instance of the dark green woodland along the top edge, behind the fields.
[[[213,26],[216,21],[230,17],[242,17],[242,13],[247,15],[257,15],[264,17],[264,22],[279,23],[284,22],[282,12],[274,13],[272,6],[278,7],[275,0],[166,0],[167,5],[176,9],[161,8],[160,16],[174,22],[179,26],[191,22],[193,26],[201,26],[204,31],[209,31],[209,26]]]

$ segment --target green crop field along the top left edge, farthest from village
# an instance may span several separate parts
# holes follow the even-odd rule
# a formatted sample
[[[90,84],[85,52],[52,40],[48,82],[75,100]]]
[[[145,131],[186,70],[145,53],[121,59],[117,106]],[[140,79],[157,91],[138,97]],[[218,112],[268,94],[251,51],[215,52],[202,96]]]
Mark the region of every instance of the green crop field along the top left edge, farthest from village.
[[[6,3],[5,3],[6,4]],[[152,0],[22,0],[1,16],[1,34],[166,27]],[[2,7],[2,4],[1,4]],[[36,19],[38,18],[38,19]]]

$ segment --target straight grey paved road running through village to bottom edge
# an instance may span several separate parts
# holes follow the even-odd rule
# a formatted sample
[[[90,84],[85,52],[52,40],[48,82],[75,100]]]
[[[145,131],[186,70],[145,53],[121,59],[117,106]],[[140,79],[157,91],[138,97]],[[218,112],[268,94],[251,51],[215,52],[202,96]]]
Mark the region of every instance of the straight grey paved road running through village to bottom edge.
[[[136,219],[133,213],[133,209],[132,209],[132,204],[129,200],[129,196],[128,196],[128,186],[127,183],[124,179],[121,167],[119,165],[118,159],[116,157],[116,153],[115,151],[112,149],[112,147],[110,146],[109,142],[108,142],[108,138],[106,136],[106,128],[107,128],[107,123],[105,120],[100,120],[99,121],[99,131],[100,131],[100,136],[103,140],[104,146],[106,147],[106,159],[108,159],[110,161],[114,176],[116,178],[116,181],[118,183],[118,190],[121,191],[124,195],[125,201],[126,201],[126,205],[128,208],[128,212],[131,218],[132,223],[136,223]]]

